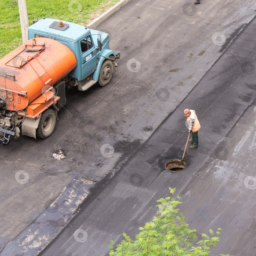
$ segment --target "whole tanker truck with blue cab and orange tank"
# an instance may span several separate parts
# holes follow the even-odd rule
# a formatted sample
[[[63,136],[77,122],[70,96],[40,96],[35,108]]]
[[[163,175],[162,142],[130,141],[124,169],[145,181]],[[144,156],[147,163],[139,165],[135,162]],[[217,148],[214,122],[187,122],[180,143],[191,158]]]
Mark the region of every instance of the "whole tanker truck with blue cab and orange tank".
[[[0,60],[0,142],[22,135],[48,138],[65,87],[85,91],[108,84],[120,53],[109,49],[109,35],[56,19],[28,29],[29,40]]]

